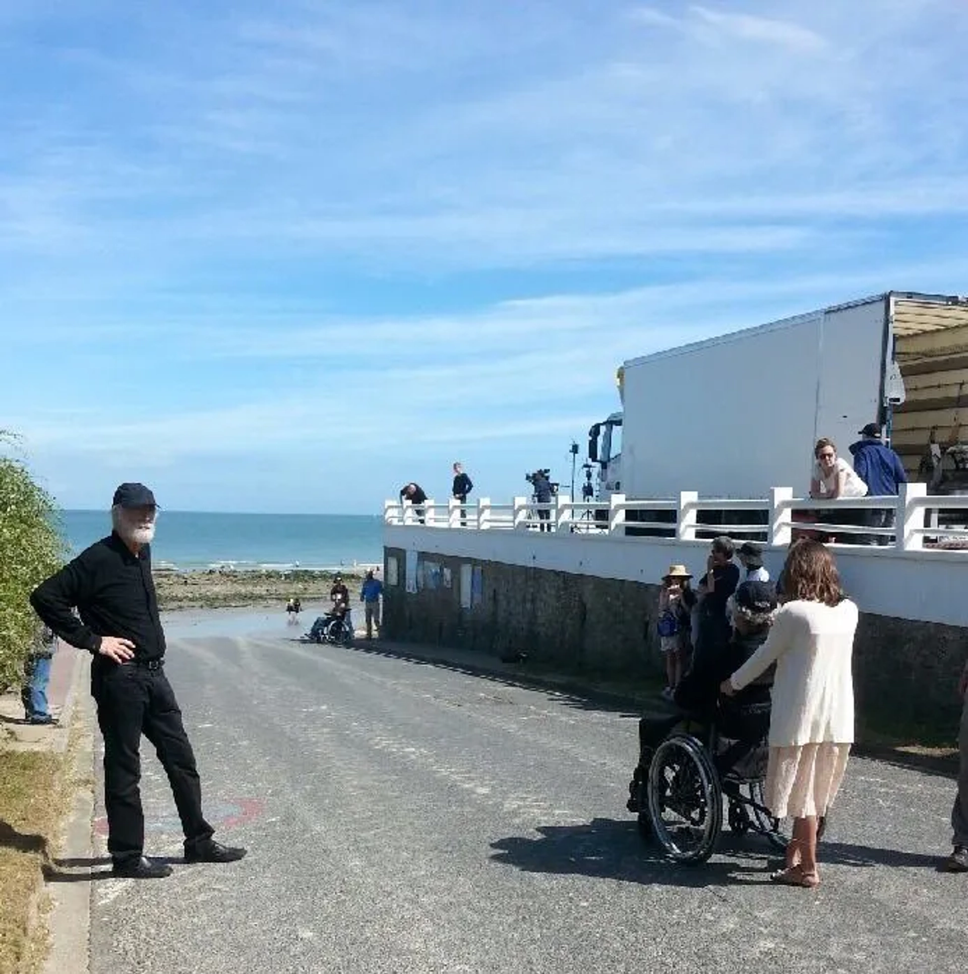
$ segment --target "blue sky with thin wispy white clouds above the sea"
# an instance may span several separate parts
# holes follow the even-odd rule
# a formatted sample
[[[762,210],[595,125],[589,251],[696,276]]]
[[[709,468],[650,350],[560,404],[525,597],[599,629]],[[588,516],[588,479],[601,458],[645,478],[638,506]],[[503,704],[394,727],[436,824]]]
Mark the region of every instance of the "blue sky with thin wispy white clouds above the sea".
[[[0,427],[64,506],[569,479],[624,358],[968,291],[959,0],[0,0]]]

